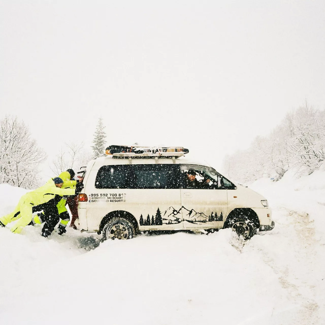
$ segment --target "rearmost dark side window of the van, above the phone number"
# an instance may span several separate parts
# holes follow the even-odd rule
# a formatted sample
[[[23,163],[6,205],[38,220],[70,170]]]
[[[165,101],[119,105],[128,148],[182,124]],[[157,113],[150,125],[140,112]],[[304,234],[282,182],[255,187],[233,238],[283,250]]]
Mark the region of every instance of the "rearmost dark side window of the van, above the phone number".
[[[107,165],[99,168],[95,188],[132,188],[130,165]]]

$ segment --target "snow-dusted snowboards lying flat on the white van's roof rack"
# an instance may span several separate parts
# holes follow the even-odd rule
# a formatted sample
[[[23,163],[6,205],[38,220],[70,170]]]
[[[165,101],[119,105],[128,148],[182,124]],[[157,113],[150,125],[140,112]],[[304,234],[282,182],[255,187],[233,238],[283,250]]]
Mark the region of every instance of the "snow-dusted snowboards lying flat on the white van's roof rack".
[[[134,146],[117,146],[111,145],[106,148],[106,154],[112,155],[113,153],[133,152],[133,153],[159,153],[159,152],[183,152],[188,153],[188,149],[183,147],[141,147]]]

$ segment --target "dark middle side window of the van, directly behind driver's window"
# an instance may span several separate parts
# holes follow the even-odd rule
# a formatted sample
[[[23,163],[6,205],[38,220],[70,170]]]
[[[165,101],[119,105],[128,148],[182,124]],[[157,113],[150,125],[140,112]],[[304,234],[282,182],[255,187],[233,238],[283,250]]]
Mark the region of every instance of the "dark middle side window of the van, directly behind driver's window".
[[[133,165],[135,188],[178,188],[172,164]]]

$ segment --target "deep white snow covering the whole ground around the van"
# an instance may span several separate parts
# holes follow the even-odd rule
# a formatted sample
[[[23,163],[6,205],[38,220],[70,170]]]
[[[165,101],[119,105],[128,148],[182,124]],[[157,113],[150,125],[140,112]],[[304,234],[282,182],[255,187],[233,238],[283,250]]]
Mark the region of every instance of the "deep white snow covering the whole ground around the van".
[[[0,324],[324,324],[324,172],[251,187],[276,226],[244,245],[224,229],[87,251],[97,235],[0,228]],[[24,192],[0,185],[0,214]]]

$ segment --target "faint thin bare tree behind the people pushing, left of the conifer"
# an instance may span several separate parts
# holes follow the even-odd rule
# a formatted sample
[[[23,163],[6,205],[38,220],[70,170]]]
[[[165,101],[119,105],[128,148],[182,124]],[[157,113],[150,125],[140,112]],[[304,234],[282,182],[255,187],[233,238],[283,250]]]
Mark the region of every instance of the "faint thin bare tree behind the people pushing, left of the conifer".
[[[51,170],[55,175],[69,168],[78,172],[80,167],[86,166],[91,159],[91,154],[84,149],[83,142],[65,143],[53,159]]]

